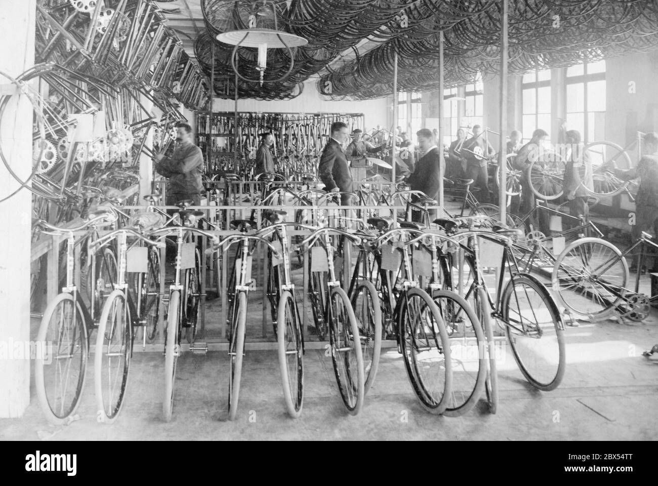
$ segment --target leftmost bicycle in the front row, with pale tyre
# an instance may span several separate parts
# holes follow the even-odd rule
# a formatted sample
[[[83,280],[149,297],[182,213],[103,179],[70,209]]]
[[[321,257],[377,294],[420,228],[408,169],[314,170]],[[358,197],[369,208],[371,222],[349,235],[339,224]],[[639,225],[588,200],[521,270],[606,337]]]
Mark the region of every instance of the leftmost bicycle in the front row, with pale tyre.
[[[116,221],[113,213],[94,213],[91,219],[76,228],[64,229],[49,225],[45,221],[37,221],[36,227],[41,227],[48,234],[66,234],[66,277],[62,292],[49,302],[41,318],[37,342],[48,344],[49,352],[39,354],[36,358],[34,371],[39,405],[47,421],[53,425],[69,423],[74,416],[82,389],[84,387],[87,361],[89,354],[89,338],[99,319],[99,311],[106,298],[106,292],[112,292],[112,270],[107,255],[101,256],[89,251],[89,279],[95,288],[88,284],[89,304],[83,299],[75,284],[74,272],[76,258],[74,248],[76,241],[74,232],[87,229],[88,234],[79,241],[86,240],[97,234],[97,226],[101,223],[111,224]],[[106,248],[107,250],[107,248]],[[106,283],[109,285],[106,286]],[[93,288],[93,290],[92,290]],[[51,360],[48,362],[48,360]]]

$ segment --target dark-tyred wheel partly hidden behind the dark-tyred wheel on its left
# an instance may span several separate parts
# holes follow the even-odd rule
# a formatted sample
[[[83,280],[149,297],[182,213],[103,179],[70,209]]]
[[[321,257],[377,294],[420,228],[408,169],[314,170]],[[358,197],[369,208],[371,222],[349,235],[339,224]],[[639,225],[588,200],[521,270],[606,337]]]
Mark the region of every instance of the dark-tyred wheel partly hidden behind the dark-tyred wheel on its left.
[[[468,369],[472,369],[472,367],[475,365],[474,360],[468,359],[470,355],[468,349],[466,351],[461,350],[460,353],[461,355],[466,355],[466,359],[462,360],[464,373],[460,373],[458,376],[455,376],[455,365],[457,360],[453,344],[450,346],[450,360],[453,364],[453,391],[451,393],[452,401],[445,409],[445,412],[443,412],[443,415],[447,417],[458,417],[472,409],[478,400],[480,400],[480,396],[482,396],[482,390],[484,389],[484,381],[486,380],[487,373],[487,362],[484,356],[484,349],[486,347],[484,332],[482,331],[482,324],[480,323],[480,319],[478,319],[475,311],[470,307],[468,302],[466,302],[463,297],[455,294],[455,292],[452,292],[451,290],[436,290],[436,292],[432,294],[432,299],[441,312],[443,322],[445,323],[445,330],[449,339],[452,340],[453,335],[455,335],[457,339],[462,338],[461,336],[457,336],[460,334],[461,330],[459,328],[455,329],[455,324],[458,325],[460,321],[463,321],[465,317],[470,323],[470,330],[472,330],[475,335],[478,369],[475,375],[474,383],[472,383],[472,374],[470,377],[465,376],[468,375]],[[443,306],[442,300],[446,300],[448,302],[453,301],[455,304],[457,304],[457,306],[459,306],[459,308],[461,308],[461,310],[455,312],[450,308],[451,306]],[[468,329],[466,329],[467,327],[468,325],[464,323],[464,334],[468,331]],[[462,396],[460,400],[455,398],[457,393],[461,394]],[[463,399],[463,396],[466,396],[465,400]]]

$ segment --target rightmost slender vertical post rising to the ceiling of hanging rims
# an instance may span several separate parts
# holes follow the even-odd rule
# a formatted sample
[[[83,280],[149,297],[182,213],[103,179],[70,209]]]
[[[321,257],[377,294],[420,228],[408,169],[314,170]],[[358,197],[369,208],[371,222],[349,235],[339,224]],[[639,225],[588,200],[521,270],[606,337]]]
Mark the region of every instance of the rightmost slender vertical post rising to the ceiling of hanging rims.
[[[508,26],[508,0],[501,0],[501,36],[500,36],[500,122],[499,122],[499,151],[498,171],[500,174],[498,207],[500,220],[507,219],[507,165],[505,165],[505,132],[507,131],[507,26]]]

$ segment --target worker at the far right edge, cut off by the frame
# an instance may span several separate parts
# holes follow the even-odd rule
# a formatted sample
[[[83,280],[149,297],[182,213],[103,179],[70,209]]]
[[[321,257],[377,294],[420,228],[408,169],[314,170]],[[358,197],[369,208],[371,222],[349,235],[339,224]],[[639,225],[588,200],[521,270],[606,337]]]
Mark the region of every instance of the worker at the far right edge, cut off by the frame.
[[[658,134],[650,132],[642,137],[645,155],[633,169],[615,169],[611,160],[602,166],[619,177],[621,180],[640,179],[640,188],[635,196],[636,217],[635,225],[631,226],[630,235],[635,242],[642,236],[642,232],[653,229],[658,236]],[[638,255],[633,256],[632,269],[638,265]],[[658,264],[654,260],[652,271],[658,271]]]

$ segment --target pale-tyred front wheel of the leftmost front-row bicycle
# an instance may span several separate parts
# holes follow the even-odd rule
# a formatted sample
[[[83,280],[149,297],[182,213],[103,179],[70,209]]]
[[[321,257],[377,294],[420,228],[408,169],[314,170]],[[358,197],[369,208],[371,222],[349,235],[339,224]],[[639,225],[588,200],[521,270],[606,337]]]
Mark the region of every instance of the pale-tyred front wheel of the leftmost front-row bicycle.
[[[80,404],[89,349],[84,314],[72,294],[59,294],[48,304],[37,343],[41,349],[34,381],[39,405],[47,421],[63,425]]]

